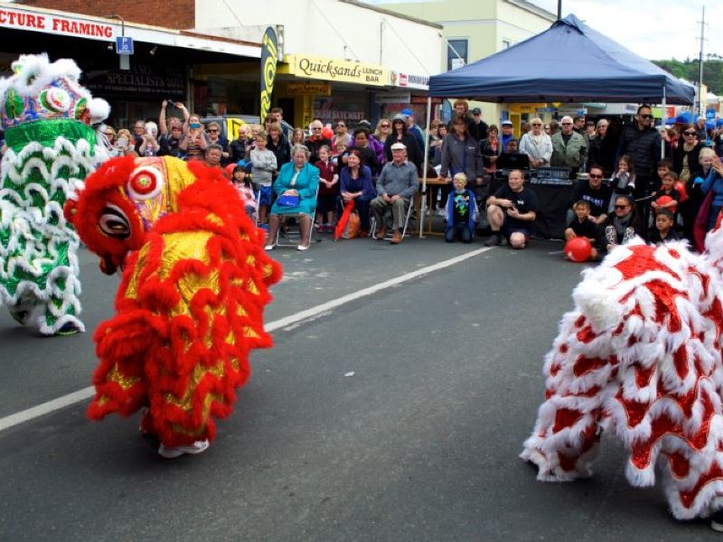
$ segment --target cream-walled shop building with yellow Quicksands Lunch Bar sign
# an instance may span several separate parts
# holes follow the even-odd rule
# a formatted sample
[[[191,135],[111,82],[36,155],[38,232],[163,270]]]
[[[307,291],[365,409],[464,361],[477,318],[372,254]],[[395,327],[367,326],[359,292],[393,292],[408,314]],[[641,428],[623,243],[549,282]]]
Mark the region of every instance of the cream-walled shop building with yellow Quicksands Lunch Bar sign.
[[[426,117],[427,81],[439,72],[443,51],[440,25],[339,0],[267,0],[244,5],[238,15],[246,29],[228,27],[223,0],[197,2],[196,28],[232,35],[274,24],[282,61],[272,104],[294,126],[314,118],[344,120],[352,129],[362,119],[375,126],[406,108],[418,111],[418,120]],[[409,90],[407,103],[384,98],[402,89]]]

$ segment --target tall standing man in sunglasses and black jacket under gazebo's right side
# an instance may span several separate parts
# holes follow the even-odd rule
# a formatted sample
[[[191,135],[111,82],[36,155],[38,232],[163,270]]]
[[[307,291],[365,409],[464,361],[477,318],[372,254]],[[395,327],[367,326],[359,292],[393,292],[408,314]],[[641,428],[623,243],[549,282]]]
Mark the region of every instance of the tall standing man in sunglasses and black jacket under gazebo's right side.
[[[655,175],[655,164],[661,155],[661,135],[653,127],[653,111],[650,106],[643,104],[638,107],[635,122],[624,127],[617,148],[617,157],[623,154],[629,154],[635,162],[633,195],[638,200],[649,194]]]

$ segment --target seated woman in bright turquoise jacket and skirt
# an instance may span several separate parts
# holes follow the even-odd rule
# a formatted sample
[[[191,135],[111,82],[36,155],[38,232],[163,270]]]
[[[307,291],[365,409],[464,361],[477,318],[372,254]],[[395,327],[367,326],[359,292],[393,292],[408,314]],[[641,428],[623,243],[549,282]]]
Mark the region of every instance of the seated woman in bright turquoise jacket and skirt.
[[[309,154],[309,149],[304,145],[294,145],[291,148],[291,162],[281,166],[274,181],[277,201],[271,207],[271,216],[268,218],[267,250],[273,250],[276,246],[279,215],[301,215],[301,244],[297,248],[309,248],[319,187],[319,170],[309,164]]]

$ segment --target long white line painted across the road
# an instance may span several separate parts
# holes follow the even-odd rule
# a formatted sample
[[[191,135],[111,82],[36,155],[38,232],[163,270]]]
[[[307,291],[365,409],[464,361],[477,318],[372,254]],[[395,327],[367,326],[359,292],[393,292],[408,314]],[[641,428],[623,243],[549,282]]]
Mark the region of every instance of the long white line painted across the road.
[[[329,313],[333,309],[340,307],[343,304],[351,303],[352,301],[356,301],[357,299],[361,299],[362,297],[366,297],[367,295],[376,294],[381,290],[384,290],[391,286],[400,285],[409,280],[418,278],[419,276],[428,275],[429,273],[434,273],[435,271],[438,271],[440,269],[455,266],[456,264],[464,262],[471,257],[479,256],[480,254],[483,254],[488,250],[492,250],[492,247],[477,248],[475,250],[465,252],[465,254],[460,254],[457,257],[452,257],[442,262],[437,262],[437,264],[421,267],[416,271],[412,271],[402,276],[397,276],[378,285],[363,288],[362,290],[358,290],[353,294],[343,295],[342,297],[333,299],[332,301],[329,301],[327,303],[316,305],[315,307],[306,309],[305,311],[301,311],[299,313],[291,314],[284,318],[280,318],[279,320],[275,320],[274,322],[268,322],[268,324],[266,325],[266,331],[273,332],[282,328],[287,328],[289,330],[294,329],[298,327],[298,325],[294,324],[300,324],[301,322],[309,321],[315,316],[319,316],[322,314],[326,315],[325,313]],[[48,401],[47,403],[42,403],[42,405],[33,406],[31,408],[27,408],[26,410],[11,414],[10,416],[5,416],[3,418],[0,418],[0,432],[5,431],[5,429],[9,429],[10,427],[14,427],[14,425],[20,425],[40,416],[46,416],[56,410],[65,408],[66,406],[72,406],[77,403],[81,403],[89,399],[90,397],[93,397],[94,395],[95,388],[89,386],[88,388],[79,389],[78,391],[74,391],[72,393],[69,393],[68,395],[58,397],[57,399],[52,399],[52,401]]]

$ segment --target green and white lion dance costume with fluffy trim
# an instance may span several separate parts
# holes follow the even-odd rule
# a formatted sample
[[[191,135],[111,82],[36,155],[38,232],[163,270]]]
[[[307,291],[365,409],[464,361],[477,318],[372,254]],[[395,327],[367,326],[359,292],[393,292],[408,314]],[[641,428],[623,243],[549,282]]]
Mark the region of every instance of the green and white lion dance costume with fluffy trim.
[[[62,208],[108,159],[91,125],[110,109],[80,86],[74,61],[24,55],[13,71],[0,79],[0,304],[21,323],[41,309],[44,335],[82,332],[80,243]]]

